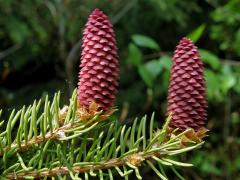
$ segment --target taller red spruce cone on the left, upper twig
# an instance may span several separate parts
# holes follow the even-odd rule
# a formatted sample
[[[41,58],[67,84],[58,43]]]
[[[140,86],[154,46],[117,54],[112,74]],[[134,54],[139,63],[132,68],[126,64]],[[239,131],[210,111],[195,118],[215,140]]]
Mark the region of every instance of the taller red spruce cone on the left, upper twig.
[[[119,63],[113,26],[108,17],[95,9],[83,31],[78,100],[86,109],[92,102],[107,111],[115,101]]]

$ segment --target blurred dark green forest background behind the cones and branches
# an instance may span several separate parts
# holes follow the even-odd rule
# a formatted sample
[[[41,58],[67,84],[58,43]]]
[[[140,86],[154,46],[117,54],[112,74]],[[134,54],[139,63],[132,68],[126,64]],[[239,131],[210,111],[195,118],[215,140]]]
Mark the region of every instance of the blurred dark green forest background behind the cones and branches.
[[[96,7],[116,32],[120,120],[155,111],[159,126],[164,122],[171,56],[187,36],[205,64],[211,131],[202,149],[182,157],[195,166],[180,172],[186,179],[240,179],[240,0],[0,0],[4,116],[58,90],[68,102],[82,30]],[[143,173],[156,178],[148,168]]]

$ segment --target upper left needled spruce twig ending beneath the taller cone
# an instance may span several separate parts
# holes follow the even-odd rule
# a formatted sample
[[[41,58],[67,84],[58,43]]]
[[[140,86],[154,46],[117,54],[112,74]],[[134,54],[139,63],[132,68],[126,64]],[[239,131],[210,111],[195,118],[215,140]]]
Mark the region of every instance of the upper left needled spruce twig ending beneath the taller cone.
[[[9,151],[26,151],[33,145],[39,145],[49,140],[64,141],[81,136],[95,127],[101,121],[102,116],[108,117],[102,111],[87,115],[84,115],[87,112],[83,112],[83,115],[80,114],[82,112],[79,113],[76,107],[76,90],[70,99],[70,105],[59,110],[59,95],[60,93],[55,94],[51,107],[48,105],[50,103],[48,96],[46,96],[44,112],[39,117],[36,114],[40,108],[41,100],[38,103],[35,101],[27,110],[24,106],[16,114],[15,110],[12,111],[6,130],[0,132],[0,157]],[[13,127],[17,121],[20,121],[19,127],[16,137],[13,139]],[[38,128],[41,132],[37,132]],[[78,133],[74,134],[75,131]],[[38,133],[39,135],[37,135]]]

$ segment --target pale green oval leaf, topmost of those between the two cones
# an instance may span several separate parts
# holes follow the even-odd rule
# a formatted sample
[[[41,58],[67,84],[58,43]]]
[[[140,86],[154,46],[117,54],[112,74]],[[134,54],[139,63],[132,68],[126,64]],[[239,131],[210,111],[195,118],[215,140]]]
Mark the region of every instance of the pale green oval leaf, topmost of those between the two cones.
[[[138,46],[146,47],[150,49],[156,49],[156,50],[160,49],[159,45],[150,37],[136,34],[132,36],[132,39],[134,43]]]

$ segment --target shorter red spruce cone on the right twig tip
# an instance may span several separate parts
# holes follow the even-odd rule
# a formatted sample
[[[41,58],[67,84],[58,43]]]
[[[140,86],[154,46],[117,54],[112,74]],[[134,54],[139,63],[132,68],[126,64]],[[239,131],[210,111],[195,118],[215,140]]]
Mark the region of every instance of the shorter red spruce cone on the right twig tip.
[[[207,101],[203,63],[197,47],[183,38],[174,52],[168,89],[170,127],[199,130],[206,121]]]

